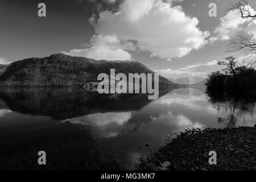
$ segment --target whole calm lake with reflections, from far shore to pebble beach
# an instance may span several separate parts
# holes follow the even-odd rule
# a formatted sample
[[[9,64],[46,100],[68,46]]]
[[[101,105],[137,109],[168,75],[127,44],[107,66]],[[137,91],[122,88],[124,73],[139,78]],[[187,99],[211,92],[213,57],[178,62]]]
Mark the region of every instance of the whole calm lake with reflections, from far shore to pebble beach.
[[[73,88],[0,88],[0,169],[134,169],[171,133],[254,126],[256,102],[205,88],[108,94]],[[47,165],[38,165],[38,151]]]

